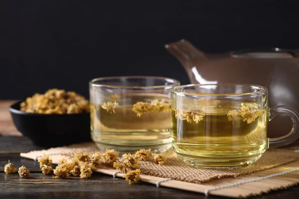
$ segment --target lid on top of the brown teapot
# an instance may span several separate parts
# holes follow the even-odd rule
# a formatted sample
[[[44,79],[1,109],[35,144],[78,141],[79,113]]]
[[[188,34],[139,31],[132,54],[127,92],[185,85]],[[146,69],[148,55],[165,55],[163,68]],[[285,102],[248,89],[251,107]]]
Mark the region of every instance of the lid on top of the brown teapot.
[[[298,50],[282,49],[282,48],[259,48],[244,49],[229,53],[235,58],[294,58],[299,57]]]

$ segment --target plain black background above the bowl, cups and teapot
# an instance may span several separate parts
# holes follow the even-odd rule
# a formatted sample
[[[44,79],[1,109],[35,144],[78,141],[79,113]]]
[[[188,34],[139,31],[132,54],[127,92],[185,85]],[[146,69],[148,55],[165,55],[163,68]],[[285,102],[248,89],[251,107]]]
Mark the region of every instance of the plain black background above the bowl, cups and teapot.
[[[299,48],[299,6],[274,0],[1,0],[0,99],[50,88],[88,97],[97,77],[152,75],[189,83],[164,44],[221,53]]]

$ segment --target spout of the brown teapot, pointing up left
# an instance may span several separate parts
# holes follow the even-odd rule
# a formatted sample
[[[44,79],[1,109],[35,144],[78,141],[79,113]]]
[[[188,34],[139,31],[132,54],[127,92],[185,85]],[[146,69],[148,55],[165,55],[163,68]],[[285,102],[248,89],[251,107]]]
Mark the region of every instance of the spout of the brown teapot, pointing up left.
[[[186,70],[193,61],[207,60],[204,53],[195,48],[189,41],[181,39],[180,41],[166,44],[165,48],[184,66]]]

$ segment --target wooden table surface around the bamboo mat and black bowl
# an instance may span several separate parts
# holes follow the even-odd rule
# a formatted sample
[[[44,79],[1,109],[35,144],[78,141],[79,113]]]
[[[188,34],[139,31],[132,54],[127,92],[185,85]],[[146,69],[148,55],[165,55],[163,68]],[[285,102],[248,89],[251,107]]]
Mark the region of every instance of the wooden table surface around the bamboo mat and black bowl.
[[[45,176],[39,164],[21,158],[20,152],[40,150],[32,142],[22,137],[14,128],[7,107],[13,101],[0,101],[0,199],[9,198],[55,198],[55,199],[88,199],[88,198],[191,198],[205,199],[203,194],[185,192],[170,188],[156,188],[154,185],[139,182],[129,185],[121,178],[94,173],[89,179],[70,177],[68,179],[52,179]],[[30,179],[19,178],[17,174],[6,175],[4,165],[8,159],[16,168],[24,165],[30,171]],[[257,197],[260,199],[298,199],[299,185],[287,190],[274,191]],[[225,199],[209,196],[208,199]]]

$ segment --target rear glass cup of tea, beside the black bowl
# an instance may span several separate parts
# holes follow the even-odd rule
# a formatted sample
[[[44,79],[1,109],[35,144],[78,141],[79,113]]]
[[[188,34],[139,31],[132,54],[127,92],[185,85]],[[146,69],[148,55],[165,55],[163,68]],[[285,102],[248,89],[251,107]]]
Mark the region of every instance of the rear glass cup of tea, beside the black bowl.
[[[170,89],[177,80],[127,76],[97,78],[89,83],[91,137],[105,151],[120,153],[171,148]]]

